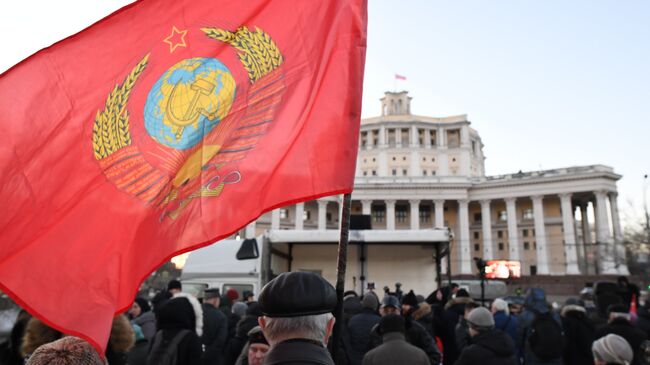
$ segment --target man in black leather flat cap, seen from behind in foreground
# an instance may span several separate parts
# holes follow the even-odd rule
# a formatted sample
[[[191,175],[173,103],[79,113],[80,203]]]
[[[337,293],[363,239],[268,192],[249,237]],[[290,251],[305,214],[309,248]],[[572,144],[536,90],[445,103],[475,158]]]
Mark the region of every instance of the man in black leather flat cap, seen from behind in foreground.
[[[326,349],[336,291],[321,276],[289,272],[271,280],[259,295],[260,327],[271,350],[264,364],[334,365]]]

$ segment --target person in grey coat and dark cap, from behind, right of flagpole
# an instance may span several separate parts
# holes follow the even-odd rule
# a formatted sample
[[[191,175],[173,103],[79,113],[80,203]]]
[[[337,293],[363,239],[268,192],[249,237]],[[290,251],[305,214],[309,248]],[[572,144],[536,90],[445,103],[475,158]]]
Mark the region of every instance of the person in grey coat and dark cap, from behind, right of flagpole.
[[[379,328],[382,333],[382,344],[365,354],[363,365],[429,364],[429,357],[422,349],[406,342],[405,319],[402,316],[398,314],[383,316]]]

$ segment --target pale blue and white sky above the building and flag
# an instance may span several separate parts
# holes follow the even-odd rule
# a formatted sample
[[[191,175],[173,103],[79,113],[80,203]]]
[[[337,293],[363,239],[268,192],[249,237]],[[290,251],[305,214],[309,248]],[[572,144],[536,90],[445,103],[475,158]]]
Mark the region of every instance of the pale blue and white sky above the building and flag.
[[[3,4],[0,72],[130,2]],[[612,166],[623,175],[623,223],[641,217],[650,173],[650,1],[369,3],[364,117],[379,114],[384,91],[408,90],[414,114],[468,115],[489,175]],[[396,73],[407,80],[395,86]]]

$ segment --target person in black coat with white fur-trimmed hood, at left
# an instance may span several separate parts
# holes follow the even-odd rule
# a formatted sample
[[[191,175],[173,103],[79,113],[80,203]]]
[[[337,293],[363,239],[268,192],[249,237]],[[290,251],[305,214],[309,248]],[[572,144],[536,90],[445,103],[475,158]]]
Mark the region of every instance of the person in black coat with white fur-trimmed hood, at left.
[[[156,312],[158,332],[147,365],[158,365],[164,357],[176,357],[177,364],[202,364],[203,310],[196,298],[183,294],[177,294]]]

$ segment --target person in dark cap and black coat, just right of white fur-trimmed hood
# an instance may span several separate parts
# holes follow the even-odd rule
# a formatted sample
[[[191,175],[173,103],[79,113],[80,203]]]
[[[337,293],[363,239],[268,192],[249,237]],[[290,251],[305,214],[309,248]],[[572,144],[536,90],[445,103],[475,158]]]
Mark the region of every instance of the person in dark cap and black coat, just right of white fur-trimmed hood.
[[[206,289],[203,294],[203,364],[221,365],[224,363],[224,351],[228,340],[228,318],[221,313],[219,289]],[[239,303],[242,304],[242,303]],[[245,304],[242,304],[244,307]]]

